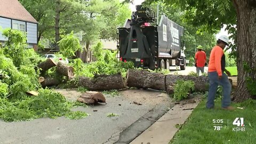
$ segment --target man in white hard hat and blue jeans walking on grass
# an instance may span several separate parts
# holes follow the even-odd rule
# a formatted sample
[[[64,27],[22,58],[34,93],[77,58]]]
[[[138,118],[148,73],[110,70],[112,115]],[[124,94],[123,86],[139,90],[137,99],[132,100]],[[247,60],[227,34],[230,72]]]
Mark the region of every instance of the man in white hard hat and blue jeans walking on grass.
[[[209,92],[206,102],[206,108],[214,107],[214,97],[216,95],[218,85],[222,86],[223,98],[222,109],[234,110],[234,107],[230,106],[231,99],[231,84],[228,76],[229,71],[225,68],[225,54],[223,49],[228,45],[228,37],[223,35],[218,38],[217,45],[213,47],[210,54],[210,61],[208,65],[208,77],[210,81]],[[227,74],[225,74],[225,73]]]

